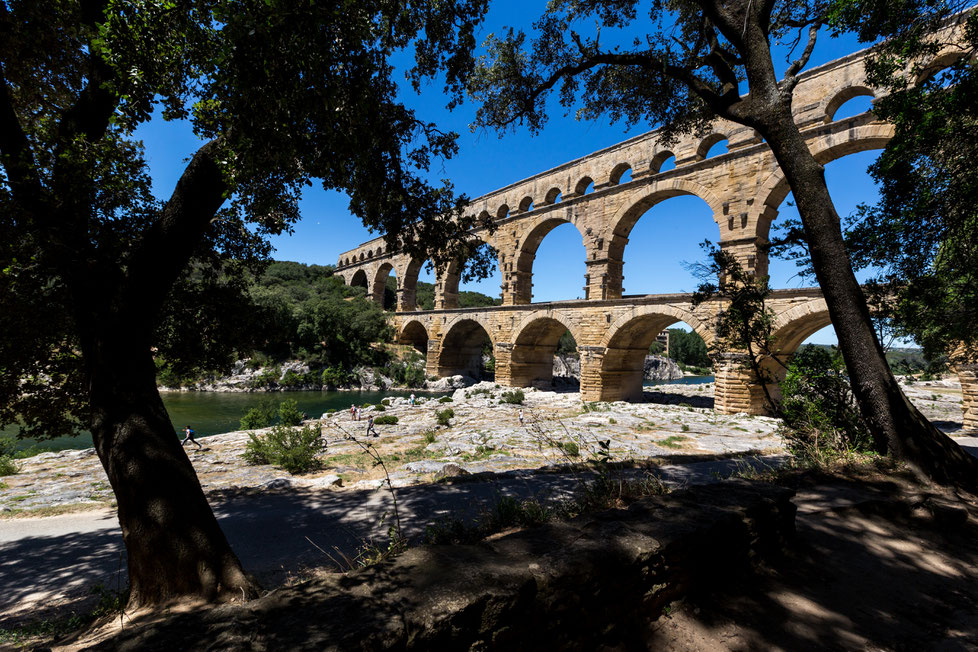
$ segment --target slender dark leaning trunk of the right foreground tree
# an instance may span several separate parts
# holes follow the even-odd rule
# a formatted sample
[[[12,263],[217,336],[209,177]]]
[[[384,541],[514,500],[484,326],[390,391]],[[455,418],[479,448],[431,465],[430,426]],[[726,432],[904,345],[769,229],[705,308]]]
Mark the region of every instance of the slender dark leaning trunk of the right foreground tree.
[[[805,229],[815,276],[825,295],[832,326],[852,380],[860,411],[877,449],[887,447],[918,472],[940,483],[974,487],[978,460],[933,426],[907,400],[886,362],[869,308],[829,196],[824,169],[815,160],[791,117],[790,106],[759,127],[791,186]]]

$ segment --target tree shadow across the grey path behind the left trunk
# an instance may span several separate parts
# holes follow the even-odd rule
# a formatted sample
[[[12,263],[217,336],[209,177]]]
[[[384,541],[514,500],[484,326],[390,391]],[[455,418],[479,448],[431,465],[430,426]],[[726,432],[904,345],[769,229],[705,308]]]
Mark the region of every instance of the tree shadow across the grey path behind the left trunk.
[[[684,486],[715,482],[745,469],[763,469],[780,459],[680,455],[676,463],[653,471],[667,484]],[[622,473],[644,471],[639,467]],[[395,495],[403,532],[417,543],[426,528],[440,519],[471,521],[491,509],[500,496],[543,501],[565,498],[589,477],[586,472],[516,470],[446,484],[412,485],[397,489]],[[245,568],[269,587],[301,576],[308,568],[343,566],[344,557],[354,558],[370,541],[386,547],[388,528],[395,520],[394,500],[386,490],[243,490],[212,493],[209,500]],[[55,518],[75,517],[97,518],[100,529],[72,532],[72,521],[64,520],[64,532],[0,544],[0,629],[25,620],[81,612],[93,602],[92,588],[97,585],[109,590],[126,586],[125,548],[114,515]],[[17,610],[28,603],[34,603],[29,610]]]

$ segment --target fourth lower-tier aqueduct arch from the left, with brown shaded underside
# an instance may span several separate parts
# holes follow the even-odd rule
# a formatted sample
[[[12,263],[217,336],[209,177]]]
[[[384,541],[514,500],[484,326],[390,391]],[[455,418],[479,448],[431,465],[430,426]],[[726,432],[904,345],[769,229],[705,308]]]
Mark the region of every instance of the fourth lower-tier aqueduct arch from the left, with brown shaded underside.
[[[604,354],[600,366],[585,373],[597,374],[599,395],[604,401],[635,401],[642,398],[645,356],[656,336],[676,322],[686,322],[709,345],[713,333],[691,311],[673,305],[641,306],[620,316],[602,339]],[[582,386],[595,379],[582,377]]]

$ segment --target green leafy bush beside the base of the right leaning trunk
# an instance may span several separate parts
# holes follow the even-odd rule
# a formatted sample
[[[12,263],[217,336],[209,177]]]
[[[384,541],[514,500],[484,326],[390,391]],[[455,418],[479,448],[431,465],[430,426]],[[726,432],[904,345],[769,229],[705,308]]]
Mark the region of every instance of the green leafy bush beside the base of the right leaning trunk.
[[[872,448],[838,351],[806,346],[795,354],[781,383],[780,414],[785,444],[803,462],[823,464]]]

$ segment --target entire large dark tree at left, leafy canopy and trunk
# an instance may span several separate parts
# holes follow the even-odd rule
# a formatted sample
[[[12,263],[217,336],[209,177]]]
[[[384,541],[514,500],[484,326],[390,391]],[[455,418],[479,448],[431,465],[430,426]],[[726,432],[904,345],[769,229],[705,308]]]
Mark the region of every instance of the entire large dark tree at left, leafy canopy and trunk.
[[[390,60],[461,87],[486,4],[0,0],[0,423],[92,432],[134,606],[256,593],[154,355],[226,355],[244,271],[302,189],[346,192],[388,249],[473,260],[464,197],[426,180],[455,136],[398,101]],[[204,141],[164,201],[133,135],[154,113]]]

